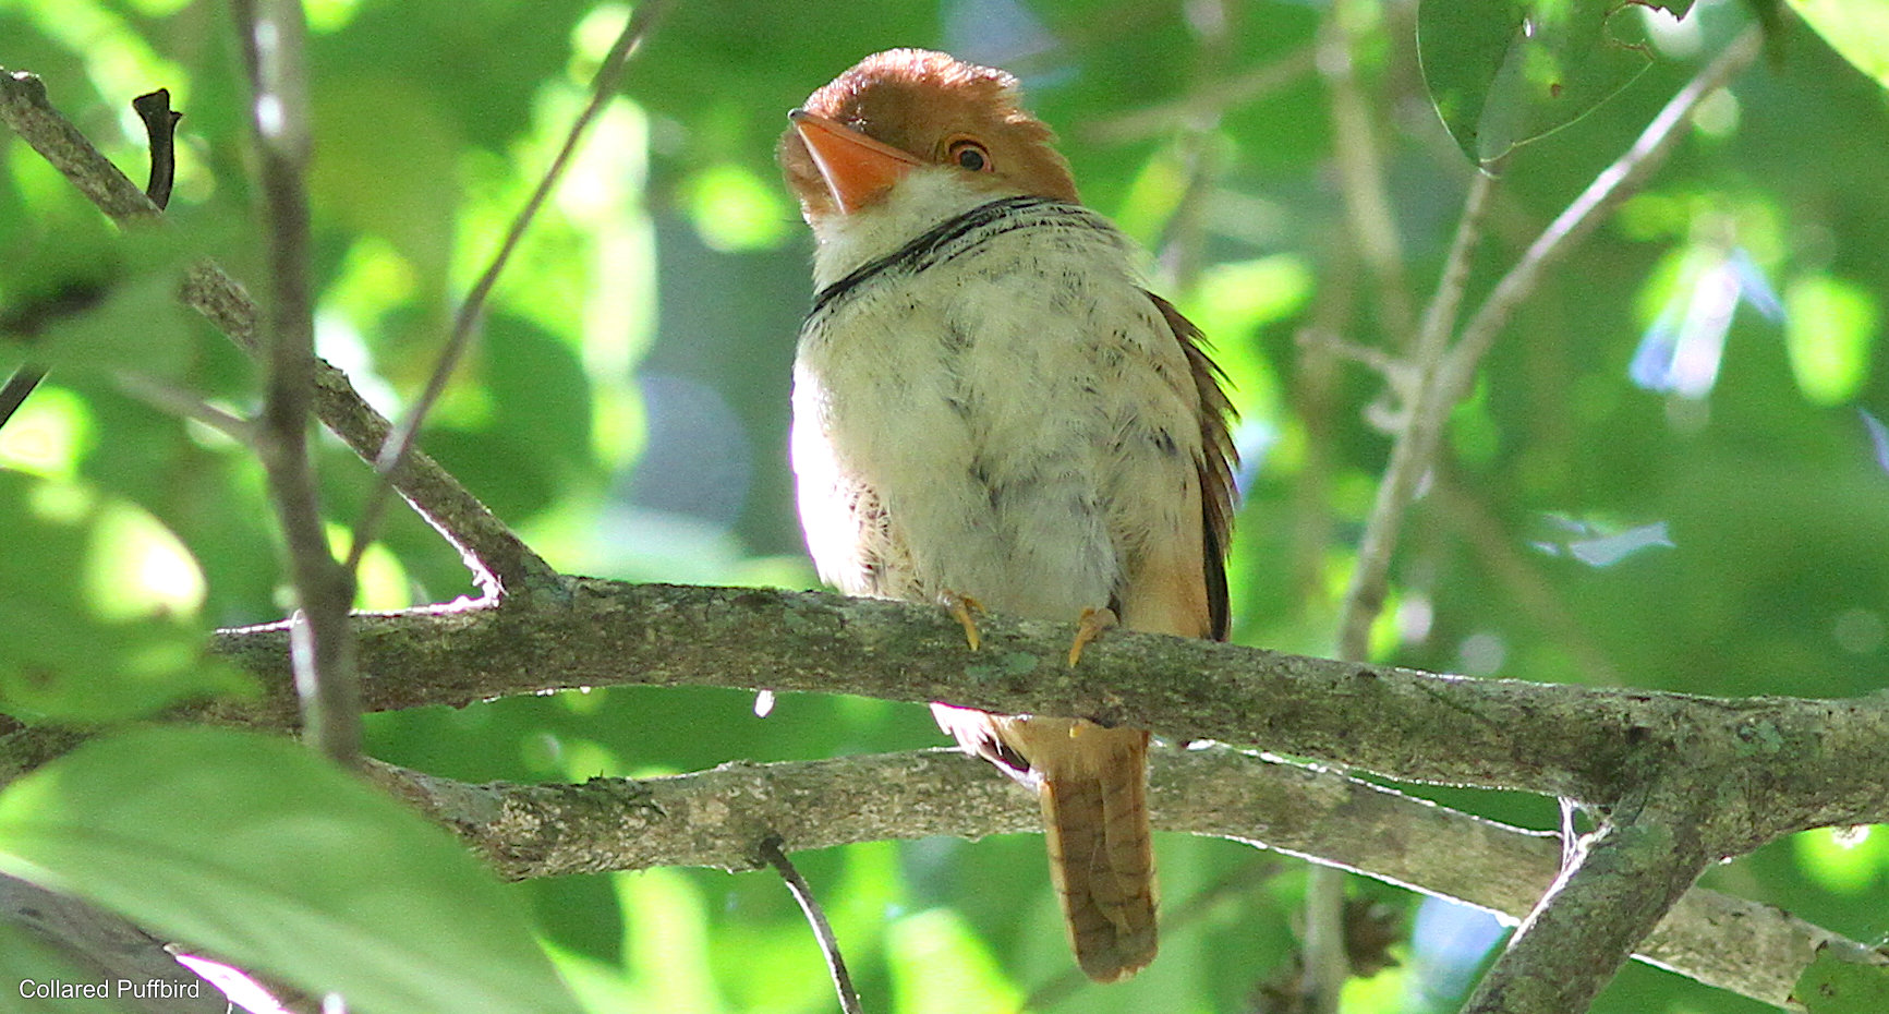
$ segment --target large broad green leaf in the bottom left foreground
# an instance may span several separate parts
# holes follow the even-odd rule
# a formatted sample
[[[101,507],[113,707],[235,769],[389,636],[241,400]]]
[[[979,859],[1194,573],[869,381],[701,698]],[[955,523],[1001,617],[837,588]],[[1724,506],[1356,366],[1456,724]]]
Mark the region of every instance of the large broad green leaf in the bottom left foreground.
[[[0,870],[365,1014],[578,1010],[472,855],[289,740],[93,740],[0,793]]]

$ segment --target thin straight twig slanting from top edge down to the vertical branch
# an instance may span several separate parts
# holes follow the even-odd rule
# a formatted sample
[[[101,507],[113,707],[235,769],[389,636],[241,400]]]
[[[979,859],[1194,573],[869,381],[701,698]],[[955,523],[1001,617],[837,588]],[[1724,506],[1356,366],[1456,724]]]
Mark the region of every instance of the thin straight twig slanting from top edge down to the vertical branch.
[[[433,404],[440,400],[446,391],[446,381],[451,380],[453,370],[459,361],[465,359],[467,349],[472,346],[472,336],[478,332],[480,323],[485,315],[485,300],[491,296],[493,285],[499,283],[499,274],[512,259],[512,251],[518,249],[519,240],[525,238],[525,228],[538,215],[538,208],[557,187],[557,181],[565,174],[565,166],[576,155],[578,145],[584,142],[584,134],[589,132],[591,121],[603,111],[604,104],[616,94],[618,83],[623,79],[623,68],[629,64],[629,57],[637,51],[642,40],[655,26],[655,19],[667,9],[667,0],[648,0],[637,4],[631,11],[629,21],[623,25],[623,32],[618,34],[616,45],[604,57],[603,66],[597,68],[597,76],[591,79],[589,104],[578,113],[578,119],[570,125],[565,134],[565,145],[557,149],[557,157],[544,170],[544,177],[538,179],[538,187],[531,191],[531,198],[525,206],[518,210],[512,217],[512,227],[504,234],[504,242],[499,244],[499,251],[493,255],[491,264],[480,274],[472,291],[467,293],[465,302],[459,304],[459,313],[453,315],[453,330],[446,340],[446,347],[440,349],[438,363],[433,364],[433,376],[427,378],[427,387],[419,393],[419,398],[406,410],[400,425],[387,436],[382,444],[380,453],[374,459],[374,470],[382,474],[383,482],[374,485],[374,491],[366,499],[366,506],[361,508],[361,519],[355,521],[353,542],[348,548],[348,570],[353,572],[361,565],[361,555],[366,551],[368,544],[374,540],[374,531],[380,527],[380,515],[387,506],[387,493],[393,485],[393,476],[400,472],[406,457],[412,453],[414,438],[419,434],[419,425],[425,423],[427,414]]]

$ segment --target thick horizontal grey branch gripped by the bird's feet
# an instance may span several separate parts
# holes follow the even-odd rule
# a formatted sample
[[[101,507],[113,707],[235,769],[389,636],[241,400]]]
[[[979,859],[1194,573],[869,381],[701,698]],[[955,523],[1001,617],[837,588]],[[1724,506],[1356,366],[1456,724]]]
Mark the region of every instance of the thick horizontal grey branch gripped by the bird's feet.
[[[1855,701],[1470,680],[1388,665],[1109,631],[1067,668],[1075,627],[988,616],[982,651],[927,606],[818,591],[572,578],[559,606],[357,614],[368,710],[546,689],[716,685],[956,701],[1001,714],[1133,721],[1402,778],[1606,804],[1685,769],[1762,795],[1747,837],[1889,820],[1889,695]],[[195,716],[289,727],[281,623],[219,631],[261,702]],[[1713,770],[1723,765],[1721,770]],[[1736,842],[1734,842],[1736,844]],[[1736,852],[1736,848],[1734,848]]]

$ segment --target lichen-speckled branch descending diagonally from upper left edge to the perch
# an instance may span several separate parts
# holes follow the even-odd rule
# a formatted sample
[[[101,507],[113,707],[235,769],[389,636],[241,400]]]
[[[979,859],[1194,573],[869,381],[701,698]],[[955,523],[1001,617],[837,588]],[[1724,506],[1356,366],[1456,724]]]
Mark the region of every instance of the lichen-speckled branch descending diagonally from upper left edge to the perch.
[[[79,134],[45,96],[45,83],[26,72],[0,70],[0,121],[11,127],[53,168],[66,176],[119,227],[162,221],[162,211]],[[183,278],[179,298],[257,355],[257,308],[223,268],[200,261]],[[348,376],[315,361],[314,412],[363,461],[374,461],[393,425],[366,404]],[[561,578],[446,468],[421,451],[393,478],[395,491],[438,531],[489,595],[561,589]]]

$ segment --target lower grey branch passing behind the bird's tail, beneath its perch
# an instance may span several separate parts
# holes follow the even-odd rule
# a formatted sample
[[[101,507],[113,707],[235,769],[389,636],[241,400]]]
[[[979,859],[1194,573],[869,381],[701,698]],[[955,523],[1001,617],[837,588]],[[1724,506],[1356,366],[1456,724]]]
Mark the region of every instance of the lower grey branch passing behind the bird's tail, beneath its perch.
[[[1033,799],[956,750],[582,786],[470,786],[372,765],[374,778],[506,878],[657,865],[759,870],[761,842],[801,852],[888,838],[1041,833]],[[1336,863],[1515,921],[1555,880],[1553,835],[1506,827],[1336,772],[1230,748],[1156,750],[1154,827]],[[1689,891],[1642,961],[1783,1005],[1819,946],[1868,948],[1776,908]]]

